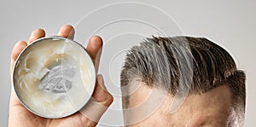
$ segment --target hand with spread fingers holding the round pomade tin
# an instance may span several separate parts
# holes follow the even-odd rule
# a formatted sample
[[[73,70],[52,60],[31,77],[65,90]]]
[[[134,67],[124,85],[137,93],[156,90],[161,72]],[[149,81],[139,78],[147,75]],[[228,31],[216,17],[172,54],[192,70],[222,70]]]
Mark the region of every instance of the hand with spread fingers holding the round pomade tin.
[[[45,32],[42,29],[37,29],[32,32],[31,37],[29,38],[28,43],[32,43],[34,40],[38,38],[43,38],[45,36]],[[62,26],[58,36],[64,38],[73,39],[74,30],[73,26]],[[10,71],[12,72],[15,61],[17,60],[18,55],[22,49],[26,48],[26,42],[20,41],[15,44],[11,55],[11,66]],[[100,37],[92,37],[86,47],[86,50],[91,55],[96,70],[99,66],[101,50],[102,50],[102,38]],[[23,107],[23,105],[18,100],[15,95],[15,91],[12,88],[10,101],[9,101],[9,126],[26,126],[26,127],[34,127],[34,126],[96,126],[98,120],[101,118],[102,114],[107,110],[110,104],[113,102],[113,96],[108,93],[106,89],[104,89],[103,78],[102,75],[97,76],[96,80],[96,88],[92,95],[92,99],[86,104],[86,106],[81,110],[85,111],[85,113],[74,113],[73,115],[66,118],[41,118]],[[102,107],[96,106],[102,105]],[[99,110],[95,110],[94,108],[102,108]],[[104,108],[105,107],[105,108]],[[86,115],[86,111],[90,112],[95,116]],[[89,116],[89,117],[88,117]],[[93,118],[91,118],[93,117]]]

